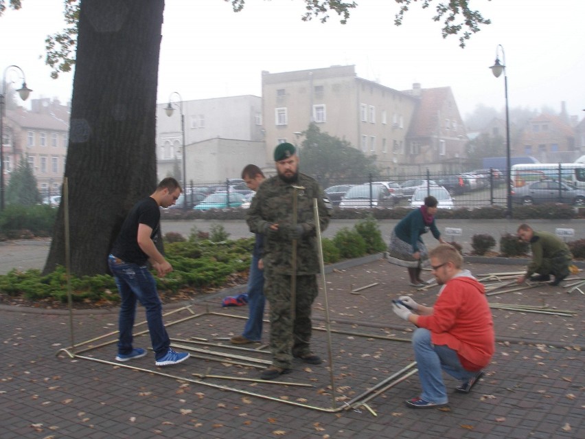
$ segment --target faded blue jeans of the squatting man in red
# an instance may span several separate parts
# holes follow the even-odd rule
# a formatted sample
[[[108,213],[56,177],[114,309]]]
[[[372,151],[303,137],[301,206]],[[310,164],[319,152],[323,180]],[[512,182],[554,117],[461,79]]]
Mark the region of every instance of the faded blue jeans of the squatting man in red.
[[[428,329],[417,328],[413,334],[412,344],[422,385],[420,397],[424,401],[437,404],[448,402],[441,370],[461,382],[467,381],[477,373],[463,369],[456,350],[446,345],[432,344],[431,331]]]

